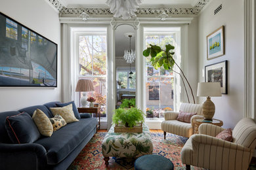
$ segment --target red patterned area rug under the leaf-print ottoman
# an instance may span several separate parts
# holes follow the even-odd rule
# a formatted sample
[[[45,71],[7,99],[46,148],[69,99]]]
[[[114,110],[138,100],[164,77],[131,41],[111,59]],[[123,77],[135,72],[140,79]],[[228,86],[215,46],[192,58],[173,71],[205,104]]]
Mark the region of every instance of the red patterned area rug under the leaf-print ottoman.
[[[68,170],[79,169],[134,169],[134,159],[127,158],[110,158],[110,164],[108,167],[104,164],[104,156],[101,152],[101,143],[106,135],[106,132],[98,132],[89,141],[89,143],[79,153],[77,158],[68,167]],[[181,137],[167,133],[166,140],[163,139],[163,133],[151,133],[151,137],[154,144],[153,154],[159,154],[168,158],[173,162],[175,169],[186,169],[181,163],[181,149],[186,143],[188,138]],[[192,167],[191,169],[200,170],[202,168]]]

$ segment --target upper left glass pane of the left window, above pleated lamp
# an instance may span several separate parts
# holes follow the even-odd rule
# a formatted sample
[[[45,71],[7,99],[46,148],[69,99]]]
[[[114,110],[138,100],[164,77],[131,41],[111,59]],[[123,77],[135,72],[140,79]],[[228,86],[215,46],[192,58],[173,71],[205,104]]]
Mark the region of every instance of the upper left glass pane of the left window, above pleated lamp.
[[[93,73],[92,42],[90,35],[79,37],[79,73],[83,76]]]

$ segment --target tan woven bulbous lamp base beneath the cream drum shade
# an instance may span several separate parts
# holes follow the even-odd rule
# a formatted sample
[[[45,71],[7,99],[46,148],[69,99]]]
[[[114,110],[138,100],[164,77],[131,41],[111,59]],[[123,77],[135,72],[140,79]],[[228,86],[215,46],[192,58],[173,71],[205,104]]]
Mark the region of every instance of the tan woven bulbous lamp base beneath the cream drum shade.
[[[211,101],[211,97],[207,97],[206,101],[203,103],[203,117],[204,120],[213,120],[213,116],[215,113],[215,105]]]

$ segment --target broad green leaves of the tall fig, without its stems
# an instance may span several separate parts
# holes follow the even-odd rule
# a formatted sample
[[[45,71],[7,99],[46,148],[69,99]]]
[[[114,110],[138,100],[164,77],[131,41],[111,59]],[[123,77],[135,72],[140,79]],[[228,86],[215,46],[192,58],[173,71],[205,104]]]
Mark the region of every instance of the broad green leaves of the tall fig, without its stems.
[[[148,57],[151,56],[151,64],[155,69],[163,66],[165,70],[173,69],[173,65],[175,61],[173,59],[173,55],[175,52],[174,46],[171,44],[165,45],[165,50],[161,49],[160,46],[150,44],[150,47],[146,48],[143,51],[143,56]]]

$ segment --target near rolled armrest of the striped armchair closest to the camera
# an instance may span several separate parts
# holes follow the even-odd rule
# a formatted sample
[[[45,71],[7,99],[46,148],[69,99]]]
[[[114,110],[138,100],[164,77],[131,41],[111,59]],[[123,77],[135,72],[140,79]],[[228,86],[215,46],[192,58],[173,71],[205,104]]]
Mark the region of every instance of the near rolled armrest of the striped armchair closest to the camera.
[[[251,152],[251,150],[241,144],[231,143],[224,141],[223,139],[218,139],[217,137],[211,137],[209,135],[196,134],[191,136],[191,143],[193,150],[198,150],[201,144],[206,144],[209,146],[217,146],[221,148],[226,148],[228,150],[240,150],[243,152]]]

